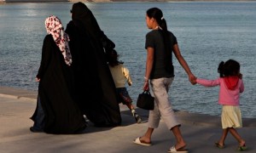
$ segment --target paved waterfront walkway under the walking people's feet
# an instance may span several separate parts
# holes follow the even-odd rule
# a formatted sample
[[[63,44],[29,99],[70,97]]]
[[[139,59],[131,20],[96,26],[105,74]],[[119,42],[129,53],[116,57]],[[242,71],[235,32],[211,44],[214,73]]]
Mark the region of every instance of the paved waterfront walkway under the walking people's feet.
[[[148,111],[137,109],[143,116],[143,123],[135,123],[127,109],[120,105],[122,125],[119,127],[87,127],[82,134],[31,133],[29,119],[36,106],[37,93],[17,88],[0,87],[0,153],[30,152],[86,152],[86,153],[159,153],[166,152],[175,143],[164,122],[154,130],[152,146],[133,144],[132,140],[141,136],[147,129]],[[214,142],[219,139],[222,129],[219,116],[177,111],[182,123],[183,137],[189,153],[233,153],[237,152],[237,142],[229,134],[226,148],[218,149]],[[256,152],[256,119],[243,119],[244,127],[238,133],[246,140],[245,152]]]

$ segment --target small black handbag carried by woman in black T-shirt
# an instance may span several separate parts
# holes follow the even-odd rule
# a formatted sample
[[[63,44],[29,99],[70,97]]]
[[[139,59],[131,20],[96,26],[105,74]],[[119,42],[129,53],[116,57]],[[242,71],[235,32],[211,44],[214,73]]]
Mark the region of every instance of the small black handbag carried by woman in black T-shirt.
[[[154,110],[154,97],[151,96],[148,90],[143,91],[137,98],[137,107],[143,110]]]

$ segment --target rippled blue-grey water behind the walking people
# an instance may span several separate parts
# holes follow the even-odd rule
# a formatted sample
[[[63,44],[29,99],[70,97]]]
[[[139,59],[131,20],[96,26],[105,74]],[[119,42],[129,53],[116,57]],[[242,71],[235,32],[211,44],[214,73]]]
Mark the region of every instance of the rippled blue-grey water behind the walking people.
[[[0,5],[0,86],[37,90],[34,78],[50,14],[71,20],[73,3],[15,3]],[[146,52],[145,12],[158,7],[179,43],[184,59],[197,77],[215,79],[221,60],[241,63],[245,92],[242,116],[256,117],[256,2],[87,3],[107,36],[116,43],[120,59],[131,71],[132,99],[142,92]],[[173,59],[176,78],[170,89],[175,109],[219,115],[218,87],[192,86]]]

